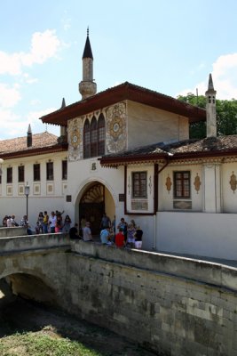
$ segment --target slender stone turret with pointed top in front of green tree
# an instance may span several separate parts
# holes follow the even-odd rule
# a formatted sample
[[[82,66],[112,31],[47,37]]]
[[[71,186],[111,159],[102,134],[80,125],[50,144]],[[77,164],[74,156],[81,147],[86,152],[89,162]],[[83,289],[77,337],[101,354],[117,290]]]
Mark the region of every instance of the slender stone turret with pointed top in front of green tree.
[[[209,88],[205,93],[207,99],[207,137],[217,137],[216,93],[211,74],[209,74]]]

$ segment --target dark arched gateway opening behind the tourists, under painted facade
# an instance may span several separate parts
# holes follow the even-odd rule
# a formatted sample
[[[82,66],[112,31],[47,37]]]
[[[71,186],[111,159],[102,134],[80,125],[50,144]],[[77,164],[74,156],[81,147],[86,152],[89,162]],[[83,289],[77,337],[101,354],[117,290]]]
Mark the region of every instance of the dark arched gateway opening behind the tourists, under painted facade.
[[[79,222],[84,216],[91,223],[92,235],[99,235],[99,226],[104,212],[113,220],[115,215],[114,199],[104,184],[91,182],[80,200]]]

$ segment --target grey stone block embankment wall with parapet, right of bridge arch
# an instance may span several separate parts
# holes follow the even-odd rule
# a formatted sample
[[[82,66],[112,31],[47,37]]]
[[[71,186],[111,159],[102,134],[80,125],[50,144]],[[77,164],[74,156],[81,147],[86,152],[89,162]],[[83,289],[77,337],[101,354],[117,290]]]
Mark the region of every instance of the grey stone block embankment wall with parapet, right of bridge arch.
[[[237,354],[237,270],[74,242],[68,312],[174,356]]]

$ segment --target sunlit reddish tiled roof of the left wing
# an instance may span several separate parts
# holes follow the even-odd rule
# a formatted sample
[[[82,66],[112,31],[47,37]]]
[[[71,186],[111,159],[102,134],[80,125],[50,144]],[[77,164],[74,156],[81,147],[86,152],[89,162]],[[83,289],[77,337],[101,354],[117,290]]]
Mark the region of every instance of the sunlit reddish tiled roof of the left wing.
[[[54,134],[44,132],[32,134],[32,146],[28,147],[28,137],[17,137],[14,139],[0,141],[0,155],[16,151],[43,149],[58,144],[58,137]]]

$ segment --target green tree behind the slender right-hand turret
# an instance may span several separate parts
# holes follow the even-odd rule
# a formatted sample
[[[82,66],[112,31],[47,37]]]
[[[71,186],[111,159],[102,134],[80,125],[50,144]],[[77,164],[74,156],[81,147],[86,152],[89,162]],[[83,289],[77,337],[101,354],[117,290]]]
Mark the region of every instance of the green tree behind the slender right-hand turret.
[[[187,93],[186,96],[179,95],[178,100],[188,104],[206,108],[206,97],[204,95],[195,96],[193,93]],[[217,99],[217,135],[237,134],[237,101],[232,99],[218,100]],[[189,127],[189,137],[202,139],[206,137],[206,122],[201,121],[193,123]]]

